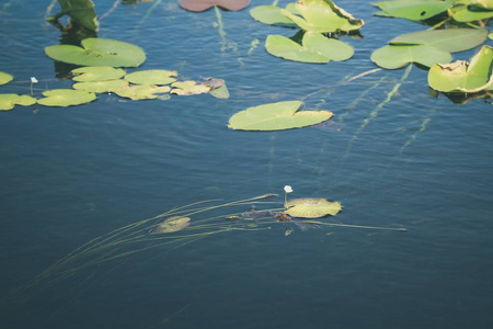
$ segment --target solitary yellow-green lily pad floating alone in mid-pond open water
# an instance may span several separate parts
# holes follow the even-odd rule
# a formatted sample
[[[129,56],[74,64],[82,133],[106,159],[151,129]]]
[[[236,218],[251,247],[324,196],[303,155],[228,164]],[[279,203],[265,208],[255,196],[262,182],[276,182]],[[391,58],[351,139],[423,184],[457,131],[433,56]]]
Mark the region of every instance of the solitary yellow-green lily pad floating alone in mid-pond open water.
[[[330,111],[298,111],[300,101],[263,104],[238,112],[228,127],[236,131],[283,131],[319,124],[332,116]]]

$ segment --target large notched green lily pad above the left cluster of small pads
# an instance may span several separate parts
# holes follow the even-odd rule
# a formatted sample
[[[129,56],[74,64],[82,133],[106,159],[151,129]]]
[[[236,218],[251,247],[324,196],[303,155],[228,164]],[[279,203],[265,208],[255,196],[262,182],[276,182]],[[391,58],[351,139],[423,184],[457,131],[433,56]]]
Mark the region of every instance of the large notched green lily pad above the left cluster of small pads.
[[[47,46],[45,53],[55,60],[81,66],[137,67],[146,60],[144,50],[129,43],[88,37],[81,44]]]

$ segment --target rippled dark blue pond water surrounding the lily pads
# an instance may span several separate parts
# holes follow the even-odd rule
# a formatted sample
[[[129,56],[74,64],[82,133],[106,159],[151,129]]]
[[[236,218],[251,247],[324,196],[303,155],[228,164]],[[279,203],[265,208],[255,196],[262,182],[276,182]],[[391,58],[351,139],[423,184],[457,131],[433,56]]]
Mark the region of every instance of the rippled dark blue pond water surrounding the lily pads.
[[[107,13],[98,36],[142,47],[139,69],[221,78],[231,95],[102,94],[80,106],[0,113],[1,328],[493,328],[491,104],[431,95],[417,67],[390,100],[405,69],[341,83],[375,69],[376,48],[424,26],[340,0],[366,22],[362,39],[344,37],[355,56],[308,65],[268,55],[267,35],[295,31],[255,22],[249,10],[218,16],[176,1],[113,4],[96,3]],[[44,55],[62,37],[44,21],[46,7],[0,5],[0,71],[15,77],[0,92],[28,94],[30,77],[39,80],[35,95],[70,87]],[[241,110],[288,100],[334,116],[293,131],[227,128]],[[343,212],[326,223],[408,231],[318,226],[285,236],[284,224],[272,223],[15,293],[113,229],[202,200],[276,193],[282,205],[286,184],[293,198],[340,201]]]

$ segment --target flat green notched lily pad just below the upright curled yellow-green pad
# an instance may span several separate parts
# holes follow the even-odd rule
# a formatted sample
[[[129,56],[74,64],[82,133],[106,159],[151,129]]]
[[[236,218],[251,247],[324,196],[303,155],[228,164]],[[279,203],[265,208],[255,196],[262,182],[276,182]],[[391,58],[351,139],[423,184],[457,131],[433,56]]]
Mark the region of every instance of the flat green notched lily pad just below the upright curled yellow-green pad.
[[[329,63],[330,60],[346,60],[354,54],[351,45],[313,32],[305,33],[302,46],[285,36],[270,35],[265,42],[265,48],[276,57],[318,64]]]

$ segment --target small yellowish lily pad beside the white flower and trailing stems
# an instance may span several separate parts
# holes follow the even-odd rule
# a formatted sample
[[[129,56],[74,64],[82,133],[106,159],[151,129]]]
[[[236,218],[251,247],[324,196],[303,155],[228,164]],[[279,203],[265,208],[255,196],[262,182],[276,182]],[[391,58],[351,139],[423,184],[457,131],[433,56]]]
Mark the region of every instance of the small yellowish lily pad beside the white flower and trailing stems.
[[[286,207],[285,214],[300,218],[334,216],[342,209],[341,203],[326,198],[294,198],[287,202]]]

